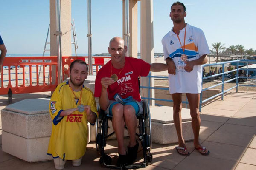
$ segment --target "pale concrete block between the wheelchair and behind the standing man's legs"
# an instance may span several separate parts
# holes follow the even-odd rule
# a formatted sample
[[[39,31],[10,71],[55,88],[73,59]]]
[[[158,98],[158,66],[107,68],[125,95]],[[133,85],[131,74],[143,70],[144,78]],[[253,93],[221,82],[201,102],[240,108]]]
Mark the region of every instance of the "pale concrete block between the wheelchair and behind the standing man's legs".
[[[173,122],[173,108],[169,106],[151,107],[152,141],[160,144],[177,143],[177,132]],[[182,109],[182,133],[185,141],[193,140],[189,109]]]

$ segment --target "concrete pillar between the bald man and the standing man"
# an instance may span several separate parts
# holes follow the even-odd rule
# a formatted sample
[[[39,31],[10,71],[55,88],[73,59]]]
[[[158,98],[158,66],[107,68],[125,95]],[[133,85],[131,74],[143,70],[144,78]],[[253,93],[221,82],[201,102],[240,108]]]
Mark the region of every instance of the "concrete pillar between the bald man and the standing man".
[[[153,0],[140,1],[140,58],[148,63],[154,62]],[[148,78],[142,78],[141,85],[148,86]],[[154,87],[154,78],[151,79],[150,85]],[[154,89],[150,91],[150,97],[154,98]],[[147,97],[148,89],[143,88],[141,96]],[[154,105],[154,100],[151,105]]]

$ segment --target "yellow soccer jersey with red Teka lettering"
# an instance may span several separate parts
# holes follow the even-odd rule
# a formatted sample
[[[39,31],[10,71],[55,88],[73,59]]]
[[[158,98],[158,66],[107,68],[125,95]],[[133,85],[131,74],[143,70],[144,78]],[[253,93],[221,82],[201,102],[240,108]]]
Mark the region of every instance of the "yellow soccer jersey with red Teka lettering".
[[[81,91],[74,91],[80,98]],[[90,105],[97,114],[96,102],[90,89],[82,88],[81,104]],[[75,111],[69,116],[60,117],[63,110],[77,108],[79,102],[70,89],[68,82],[57,86],[49,103],[49,112],[52,118],[52,134],[47,150],[53,158],[65,160],[79,159],[84,155],[87,145],[88,127],[85,112]]]

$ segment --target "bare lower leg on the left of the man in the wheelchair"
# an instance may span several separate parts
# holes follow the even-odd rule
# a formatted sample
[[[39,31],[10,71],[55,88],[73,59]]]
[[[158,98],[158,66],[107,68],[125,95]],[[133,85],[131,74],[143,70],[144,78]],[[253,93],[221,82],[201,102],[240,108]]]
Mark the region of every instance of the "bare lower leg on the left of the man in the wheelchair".
[[[124,106],[122,104],[116,104],[112,108],[112,126],[116,133],[116,139],[118,142],[118,152],[121,155],[126,155],[126,150],[124,146]]]

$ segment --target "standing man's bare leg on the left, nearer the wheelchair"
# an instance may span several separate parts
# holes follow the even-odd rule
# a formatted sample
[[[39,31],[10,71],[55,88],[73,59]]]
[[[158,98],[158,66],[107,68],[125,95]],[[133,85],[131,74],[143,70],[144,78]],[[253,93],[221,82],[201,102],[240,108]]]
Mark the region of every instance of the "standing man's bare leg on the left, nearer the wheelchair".
[[[172,100],[173,100],[173,121],[174,125],[177,131],[178,136],[178,143],[179,147],[186,148],[185,141],[183,139],[182,135],[182,119],[181,119],[181,109],[182,109],[182,94],[181,93],[175,93],[172,94]],[[178,150],[180,153],[187,154],[188,152],[185,152],[185,150]]]

